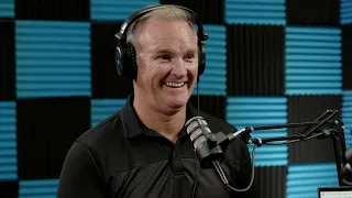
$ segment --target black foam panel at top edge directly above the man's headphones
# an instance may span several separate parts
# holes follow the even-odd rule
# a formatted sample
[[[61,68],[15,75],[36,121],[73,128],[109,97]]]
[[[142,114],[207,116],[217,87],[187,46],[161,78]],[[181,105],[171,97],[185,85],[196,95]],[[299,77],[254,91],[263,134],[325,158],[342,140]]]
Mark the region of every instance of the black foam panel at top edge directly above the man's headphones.
[[[223,0],[161,0],[162,4],[179,4],[191,9],[198,14],[202,23],[223,24],[224,23],[224,2]],[[209,14],[211,13],[211,14]]]

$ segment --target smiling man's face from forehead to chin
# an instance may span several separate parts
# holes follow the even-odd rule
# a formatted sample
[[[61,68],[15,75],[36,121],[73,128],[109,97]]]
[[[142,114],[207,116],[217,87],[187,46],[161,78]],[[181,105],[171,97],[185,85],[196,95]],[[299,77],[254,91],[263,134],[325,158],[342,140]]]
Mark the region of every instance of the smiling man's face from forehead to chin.
[[[136,40],[136,86],[145,102],[165,113],[180,110],[197,81],[197,35],[185,21],[150,19]]]

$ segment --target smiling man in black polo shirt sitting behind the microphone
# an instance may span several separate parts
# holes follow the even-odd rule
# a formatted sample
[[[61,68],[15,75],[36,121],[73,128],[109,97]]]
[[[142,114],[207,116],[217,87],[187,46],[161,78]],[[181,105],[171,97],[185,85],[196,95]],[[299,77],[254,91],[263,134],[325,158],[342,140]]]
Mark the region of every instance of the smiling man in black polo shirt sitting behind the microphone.
[[[169,6],[144,14],[135,21],[138,25],[125,30],[133,45],[125,50],[132,56],[130,62],[135,58],[136,64],[135,75],[131,75],[133,95],[120,111],[75,141],[63,165],[58,198],[246,195],[230,190],[215,168],[200,167],[185,130],[186,121],[197,116],[188,102],[199,72],[193,20],[189,12]],[[200,116],[213,132],[237,131],[210,114]],[[240,139],[226,150],[221,167],[231,186],[250,185],[251,160]]]

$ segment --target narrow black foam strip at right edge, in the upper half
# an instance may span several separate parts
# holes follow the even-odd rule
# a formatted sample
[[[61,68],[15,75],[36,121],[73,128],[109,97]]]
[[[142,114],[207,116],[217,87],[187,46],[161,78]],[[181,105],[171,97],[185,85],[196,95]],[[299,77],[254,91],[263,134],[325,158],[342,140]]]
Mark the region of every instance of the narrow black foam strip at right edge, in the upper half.
[[[352,89],[352,24],[342,25],[343,89]]]

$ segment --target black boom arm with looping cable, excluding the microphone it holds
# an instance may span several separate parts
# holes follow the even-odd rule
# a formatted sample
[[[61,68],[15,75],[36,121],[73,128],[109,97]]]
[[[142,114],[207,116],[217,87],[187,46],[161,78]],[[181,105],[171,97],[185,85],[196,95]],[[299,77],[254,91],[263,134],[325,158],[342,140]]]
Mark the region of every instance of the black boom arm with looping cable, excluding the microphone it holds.
[[[210,133],[207,135],[207,142],[209,144],[211,153],[216,156],[213,157],[212,164],[216,167],[218,174],[220,175],[224,185],[235,191],[245,191],[248,190],[254,178],[254,153],[255,147],[260,147],[263,144],[279,145],[279,144],[289,144],[295,142],[307,141],[311,139],[327,139],[330,138],[333,142],[334,157],[337,164],[338,178],[341,170],[341,164],[345,165],[346,161],[343,153],[346,151],[345,140],[344,140],[344,125],[336,117],[338,116],[338,110],[327,110],[320,117],[318,117],[314,122],[300,122],[300,123],[287,123],[278,125],[263,125],[263,127],[246,127],[235,133],[224,135],[222,132]],[[274,129],[285,129],[285,128],[304,128],[302,131],[295,135],[288,136],[275,136],[275,138],[252,138],[251,133],[254,131],[263,130],[274,130]],[[223,153],[227,150],[228,145],[237,138],[241,136],[241,140],[245,144],[254,144],[253,156],[252,156],[252,179],[250,185],[245,189],[235,189],[231,187],[224,176],[223,170],[219,163],[223,160]],[[340,145],[339,142],[340,141]],[[218,151],[218,152],[217,152]],[[220,155],[219,155],[220,154]],[[339,185],[343,186],[343,182],[339,179]]]

